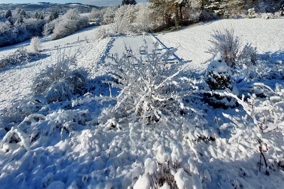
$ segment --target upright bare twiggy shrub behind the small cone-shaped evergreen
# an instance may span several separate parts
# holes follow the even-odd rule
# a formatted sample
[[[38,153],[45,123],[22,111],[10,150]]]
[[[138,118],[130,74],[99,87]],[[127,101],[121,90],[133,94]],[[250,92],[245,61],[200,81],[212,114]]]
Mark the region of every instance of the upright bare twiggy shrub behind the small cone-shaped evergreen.
[[[241,37],[235,34],[235,29],[233,27],[222,30],[216,28],[209,41],[212,44],[209,52],[213,55],[221,52],[227,65],[234,68],[241,50]]]

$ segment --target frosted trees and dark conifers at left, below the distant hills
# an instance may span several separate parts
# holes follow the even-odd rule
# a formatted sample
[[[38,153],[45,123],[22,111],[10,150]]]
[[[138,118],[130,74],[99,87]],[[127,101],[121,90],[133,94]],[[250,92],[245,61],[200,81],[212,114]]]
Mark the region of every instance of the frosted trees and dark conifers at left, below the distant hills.
[[[0,47],[21,43],[33,36],[46,36],[51,39],[63,38],[88,26],[88,18],[80,17],[77,9],[69,9],[63,16],[54,11],[49,16],[16,9],[0,15]]]

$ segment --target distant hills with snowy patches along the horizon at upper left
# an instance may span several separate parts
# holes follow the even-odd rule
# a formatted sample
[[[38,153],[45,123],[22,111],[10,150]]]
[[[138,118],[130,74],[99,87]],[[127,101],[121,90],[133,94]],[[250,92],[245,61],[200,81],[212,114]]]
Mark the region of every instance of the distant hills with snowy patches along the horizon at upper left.
[[[71,8],[77,8],[80,13],[85,12],[91,12],[93,8],[101,9],[103,7],[94,6],[94,5],[84,5],[82,3],[65,3],[65,4],[59,4],[59,3],[49,3],[49,2],[37,2],[37,3],[7,3],[7,4],[0,4],[0,10],[6,11],[7,9],[15,10],[16,8],[20,8],[22,10],[26,11],[34,11],[38,9],[42,10],[53,10],[53,9],[71,9]]]

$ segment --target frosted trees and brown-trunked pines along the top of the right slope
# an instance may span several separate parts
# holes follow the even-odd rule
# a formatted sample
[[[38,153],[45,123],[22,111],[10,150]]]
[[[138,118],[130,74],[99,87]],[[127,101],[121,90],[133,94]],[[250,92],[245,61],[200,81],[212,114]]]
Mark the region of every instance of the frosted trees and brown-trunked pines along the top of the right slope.
[[[256,14],[274,13],[283,9],[283,0],[147,0],[138,3],[122,0],[120,6],[93,9],[90,21],[106,25],[98,37],[117,33],[159,32],[176,30],[196,22],[217,18],[249,17],[248,10]],[[281,12],[280,12],[281,14]]]

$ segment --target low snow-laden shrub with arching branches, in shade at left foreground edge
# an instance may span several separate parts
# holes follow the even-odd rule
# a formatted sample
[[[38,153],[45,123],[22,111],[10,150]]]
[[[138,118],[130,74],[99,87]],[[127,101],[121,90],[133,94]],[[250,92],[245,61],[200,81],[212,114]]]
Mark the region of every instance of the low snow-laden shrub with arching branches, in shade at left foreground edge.
[[[13,124],[0,141],[0,149],[8,152],[23,147],[28,151],[33,141],[41,139],[42,136],[59,134],[59,132],[62,139],[63,131],[70,133],[76,126],[84,126],[88,113],[88,110],[59,109],[46,116],[39,113],[30,114],[20,123]],[[42,127],[43,124],[45,127]]]

